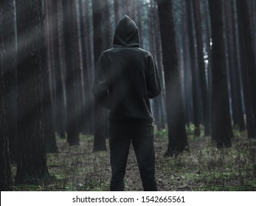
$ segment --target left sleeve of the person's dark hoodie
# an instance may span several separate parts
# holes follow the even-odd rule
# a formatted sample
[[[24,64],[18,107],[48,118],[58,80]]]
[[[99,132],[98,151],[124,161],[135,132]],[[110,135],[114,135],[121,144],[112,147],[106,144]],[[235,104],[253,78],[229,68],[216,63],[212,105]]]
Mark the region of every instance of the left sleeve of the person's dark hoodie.
[[[108,88],[109,80],[105,71],[105,56],[104,54],[101,54],[95,69],[92,92],[94,93],[94,98],[100,104],[100,106],[110,110],[111,97],[108,93]]]

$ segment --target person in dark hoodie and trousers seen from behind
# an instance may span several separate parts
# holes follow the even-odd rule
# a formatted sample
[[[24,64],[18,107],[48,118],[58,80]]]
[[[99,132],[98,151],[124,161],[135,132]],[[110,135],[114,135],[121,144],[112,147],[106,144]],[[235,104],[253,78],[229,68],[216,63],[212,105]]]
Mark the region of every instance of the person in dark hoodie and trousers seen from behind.
[[[103,51],[97,62],[94,96],[110,110],[110,191],[124,191],[130,143],[144,191],[157,191],[153,148],[153,118],[149,99],[161,92],[151,53],[139,48],[139,32],[125,15],[114,33],[114,48]]]

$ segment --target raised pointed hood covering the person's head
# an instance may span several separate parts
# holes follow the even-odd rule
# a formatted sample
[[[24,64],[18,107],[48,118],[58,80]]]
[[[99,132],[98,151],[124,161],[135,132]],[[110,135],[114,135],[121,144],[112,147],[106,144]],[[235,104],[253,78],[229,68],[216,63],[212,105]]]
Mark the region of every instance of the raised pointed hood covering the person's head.
[[[139,47],[139,31],[135,22],[125,15],[117,23],[114,32],[114,47]]]

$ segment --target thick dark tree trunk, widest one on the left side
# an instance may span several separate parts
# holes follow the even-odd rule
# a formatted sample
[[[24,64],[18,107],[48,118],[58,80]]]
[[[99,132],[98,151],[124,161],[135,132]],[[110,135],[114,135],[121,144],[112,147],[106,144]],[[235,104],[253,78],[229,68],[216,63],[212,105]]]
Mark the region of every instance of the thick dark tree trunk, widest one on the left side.
[[[15,182],[49,177],[44,150],[42,52],[44,25],[40,0],[16,1],[18,35],[18,160]],[[26,8],[26,13],[24,13]]]

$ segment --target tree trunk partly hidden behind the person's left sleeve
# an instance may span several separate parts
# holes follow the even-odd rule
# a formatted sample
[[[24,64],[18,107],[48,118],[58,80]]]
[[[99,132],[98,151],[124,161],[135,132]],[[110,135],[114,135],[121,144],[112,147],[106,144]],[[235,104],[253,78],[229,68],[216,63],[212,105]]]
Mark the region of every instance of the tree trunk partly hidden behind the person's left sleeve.
[[[100,0],[92,1],[94,22],[94,65],[96,65],[100,54],[103,52],[103,3]],[[94,104],[94,152],[106,150],[105,138],[107,134],[106,110],[95,101]]]

